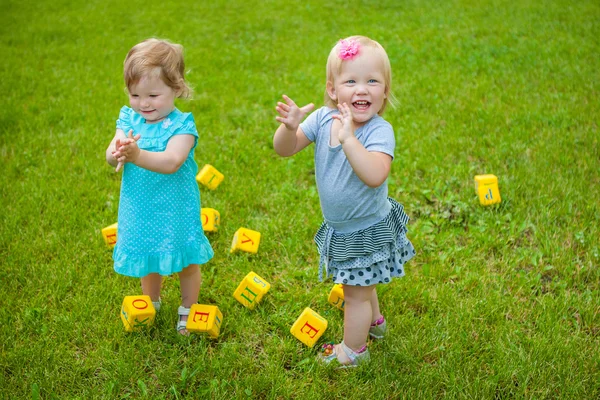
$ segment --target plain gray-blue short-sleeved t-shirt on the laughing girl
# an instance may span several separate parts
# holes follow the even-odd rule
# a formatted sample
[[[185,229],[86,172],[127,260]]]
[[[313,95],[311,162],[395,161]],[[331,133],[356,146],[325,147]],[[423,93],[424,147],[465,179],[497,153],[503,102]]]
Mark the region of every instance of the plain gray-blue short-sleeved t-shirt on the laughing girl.
[[[340,233],[366,229],[381,221],[391,210],[387,199],[387,180],[377,188],[367,186],[354,173],[342,145],[330,146],[332,115],[338,110],[321,107],[300,124],[311,142],[315,142],[315,170],[321,210],[325,221]],[[394,130],[375,115],[354,135],[368,151],[394,157]]]

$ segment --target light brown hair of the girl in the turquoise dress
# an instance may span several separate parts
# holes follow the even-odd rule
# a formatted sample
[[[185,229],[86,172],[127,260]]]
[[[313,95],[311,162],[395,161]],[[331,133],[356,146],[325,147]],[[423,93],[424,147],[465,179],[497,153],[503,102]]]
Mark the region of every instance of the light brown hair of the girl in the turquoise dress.
[[[183,46],[168,40],[146,39],[129,50],[123,62],[127,90],[146,76],[157,75],[179,97],[187,99],[192,89],[185,82]]]

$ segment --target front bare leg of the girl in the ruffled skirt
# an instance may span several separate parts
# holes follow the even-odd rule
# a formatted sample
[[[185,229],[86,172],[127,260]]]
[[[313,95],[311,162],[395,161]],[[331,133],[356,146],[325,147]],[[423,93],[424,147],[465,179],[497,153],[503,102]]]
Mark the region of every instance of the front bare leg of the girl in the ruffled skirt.
[[[348,286],[344,285],[344,343],[354,351],[359,351],[367,344],[367,336],[373,309],[373,286]],[[336,350],[338,360],[347,363],[350,360],[341,349]]]

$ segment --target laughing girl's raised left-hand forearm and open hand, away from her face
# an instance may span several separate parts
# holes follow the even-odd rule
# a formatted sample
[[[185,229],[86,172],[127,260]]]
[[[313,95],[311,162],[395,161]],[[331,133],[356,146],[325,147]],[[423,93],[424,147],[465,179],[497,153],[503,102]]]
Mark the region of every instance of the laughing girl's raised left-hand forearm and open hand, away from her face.
[[[286,95],[283,95],[283,99],[285,103],[278,102],[277,107],[275,107],[275,110],[279,113],[279,116],[275,119],[281,122],[281,125],[273,136],[273,148],[280,156],[289,157],[311,143],[299,126],[306,114],[312,111],[314,105],[311,103],[304,107],[298,107]]]

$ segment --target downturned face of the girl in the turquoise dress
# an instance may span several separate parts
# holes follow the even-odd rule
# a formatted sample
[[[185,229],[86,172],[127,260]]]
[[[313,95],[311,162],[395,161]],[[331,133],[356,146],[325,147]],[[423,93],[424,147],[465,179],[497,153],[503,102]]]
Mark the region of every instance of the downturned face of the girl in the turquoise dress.
[[[175,109],[177,93],[157,74],[142,77],[129,87],[129,104],[146,122],[153,124],[165,119]]]

